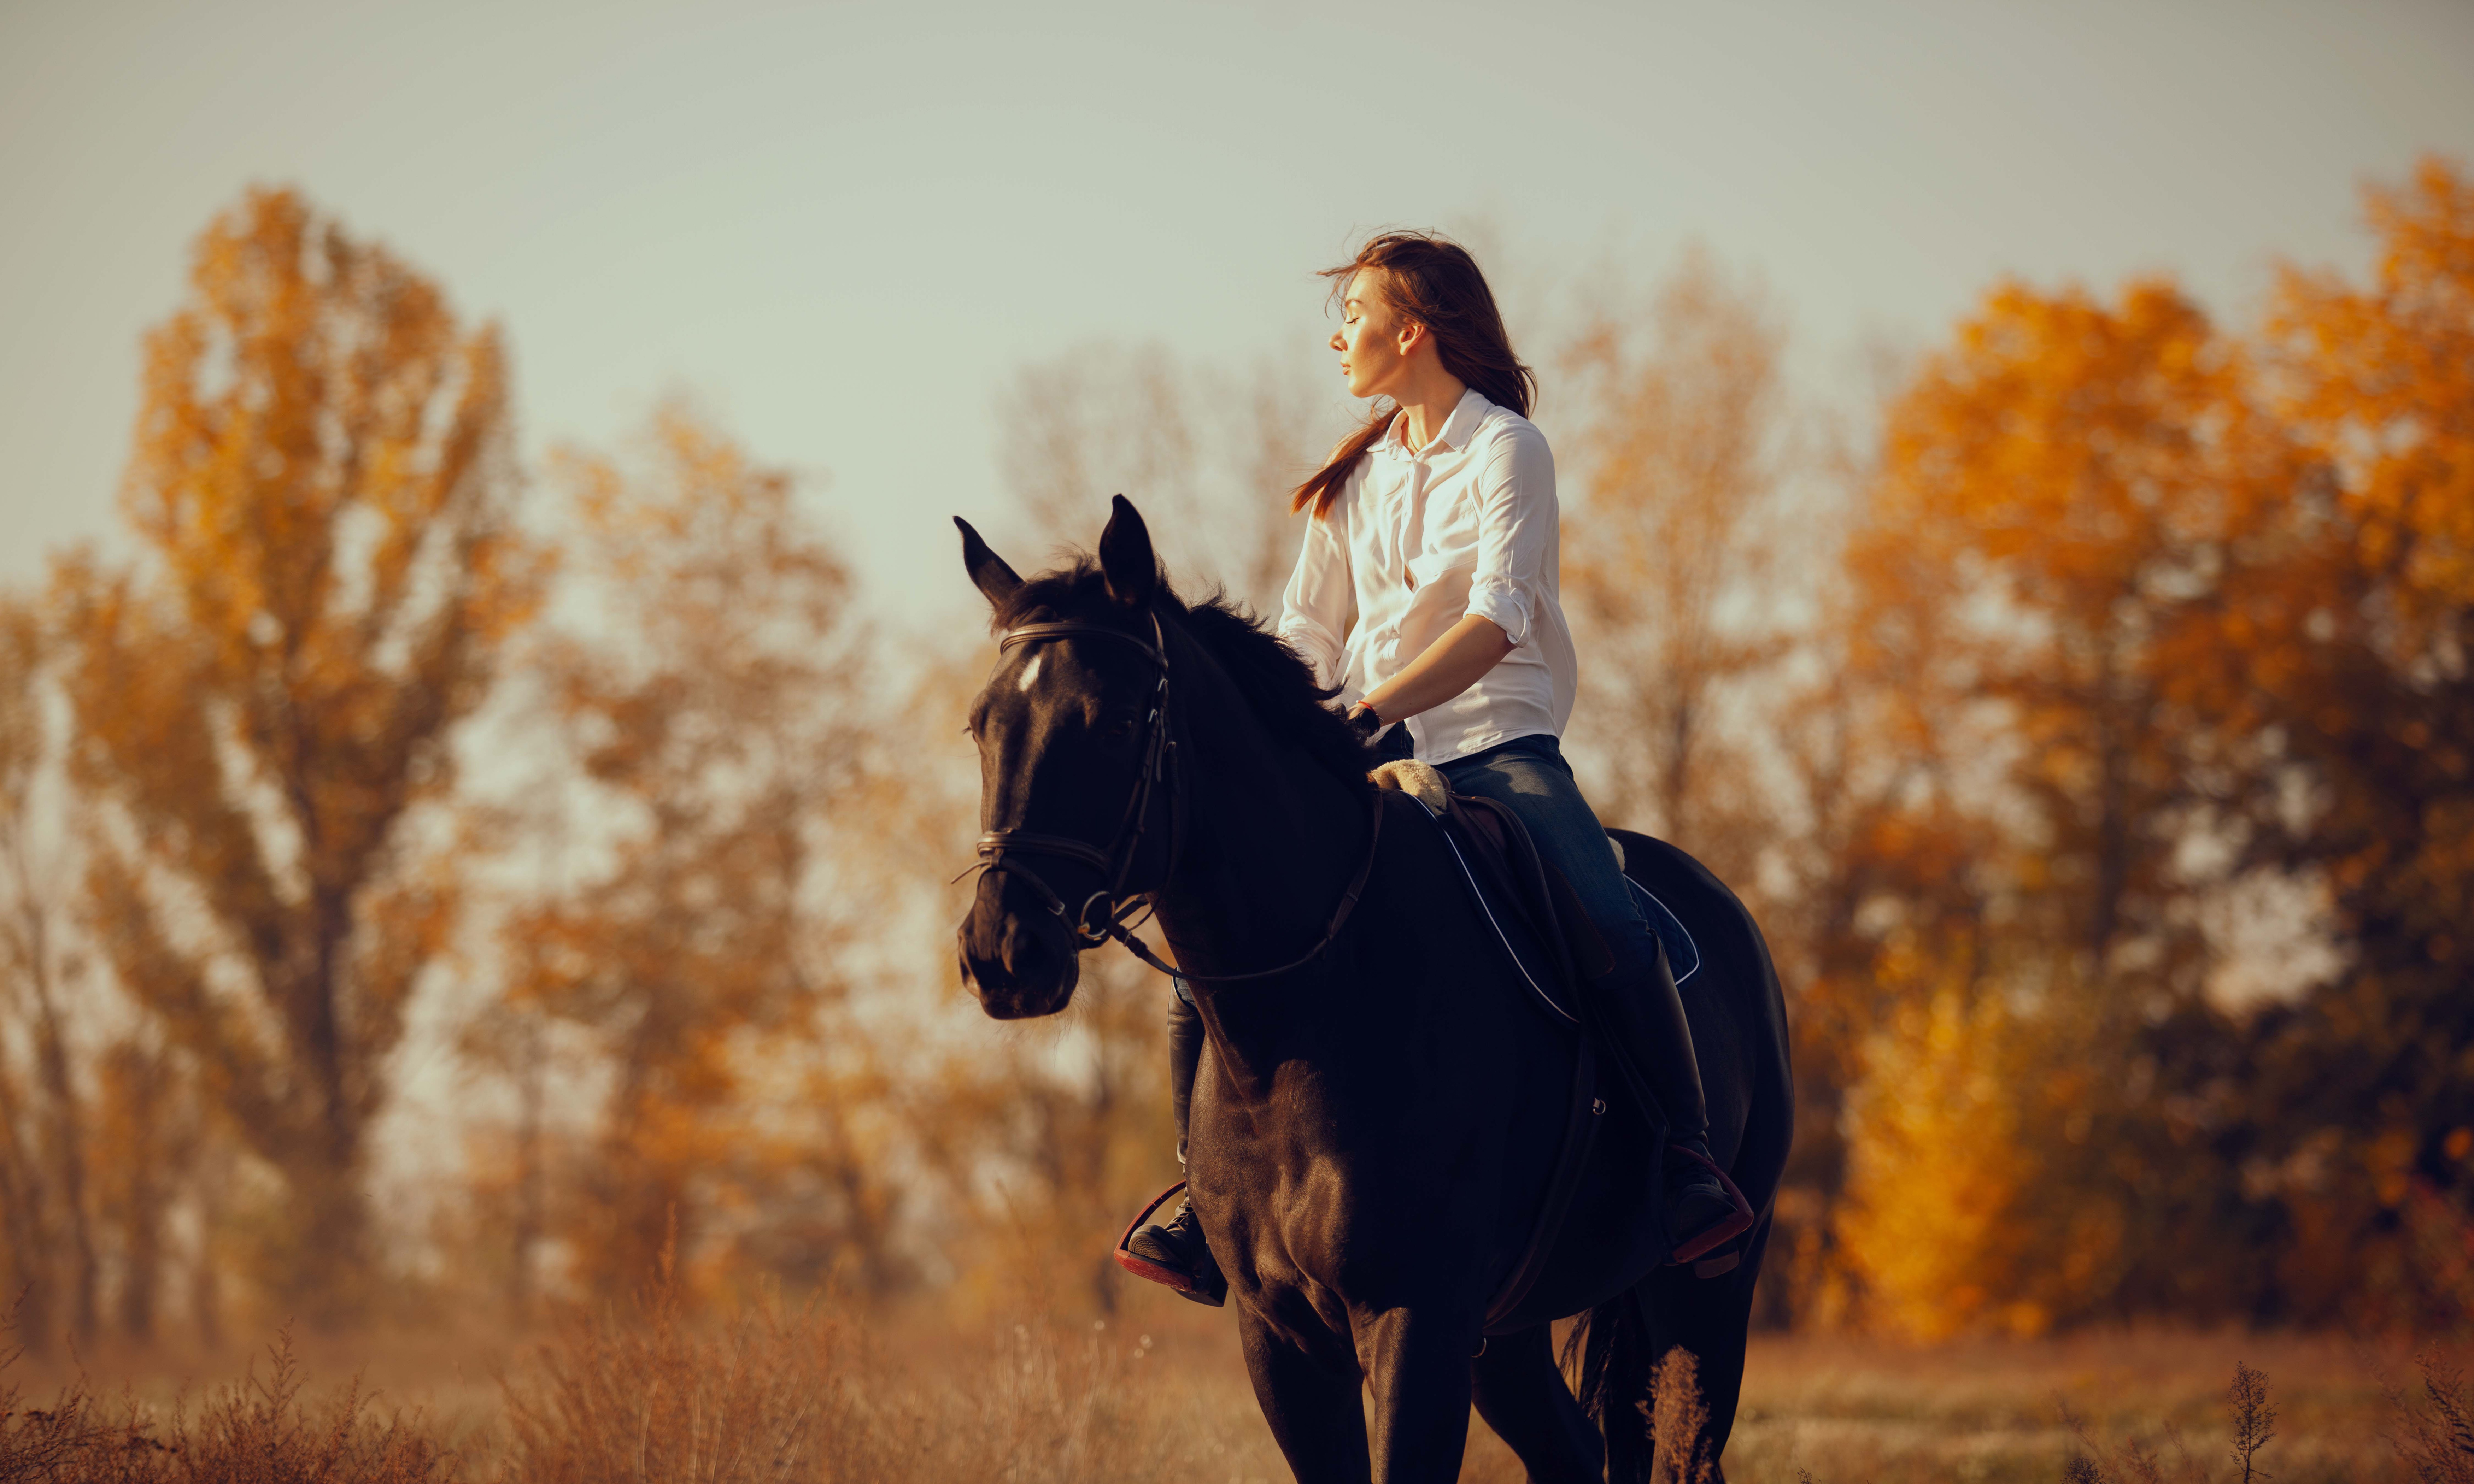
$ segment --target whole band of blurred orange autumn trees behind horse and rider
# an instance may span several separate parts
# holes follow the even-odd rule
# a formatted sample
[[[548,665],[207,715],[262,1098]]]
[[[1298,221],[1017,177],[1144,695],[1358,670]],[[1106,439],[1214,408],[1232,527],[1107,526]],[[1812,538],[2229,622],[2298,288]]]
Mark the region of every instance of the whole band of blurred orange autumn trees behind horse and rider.
[[[2429,161],[2373,225],[2370,284],[2288,272],[2254,336],[2165,279],[1994,287],[1883,408],[1843,552],[1789,505],[1757,294],[1690,260],[1569,359],[1581,749],[1611,814],[1759,900],[1794,994],[1769,1316],[2462,1316],[2474,186]],[[1314,403],[1242,391],[1032,366],[1007,482],[1047,537],[1123,477],[1190,586],[1269,596]],[[505,885],[463,853],[458,722],[520,658],[507,754],[547,779],[492,819],[539,876],[490,903],[500,994],[460,1026],[520,1088],[475,1172],[510,1296],[542,1254],[626,1291],[675,1222],[698,1296],[888,1294],[928,1256],[965,1301],[1111,1306],[1106,1242],[1170,1175],[1165,984],[1101,955],[1069,1017],[1004,1029],[918,994],[950,987],[977,638],[876,702],[794,482],[683,406],[552,460],[549,589],[510,443],[495,334],[388,252],[289,193],[200,237],[148,341],[141,559],[0,608],[7,1279],[139,1333],[195,1247],[213,1321],[203,1259],[255,1222],[280,1301],[351,1311],[386,1059]],[[54,668],[77,871],[30,851]],[[2222,1004],[2256,950],[2207,910],[2259,881],[2321,893],[2343,952]],[[72,905],[134,1026],[62,1012]],[[250,1200],[225,1130],[275,1212],[218,1205]]]

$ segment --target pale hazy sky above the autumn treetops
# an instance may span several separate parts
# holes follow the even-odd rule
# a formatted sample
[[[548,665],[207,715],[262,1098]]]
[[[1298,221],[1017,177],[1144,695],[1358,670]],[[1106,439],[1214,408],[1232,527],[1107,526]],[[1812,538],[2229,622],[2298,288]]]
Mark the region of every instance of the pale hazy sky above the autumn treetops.
[[[139,336],[252,181],[500,319],[527,450],[690,388],[933,618],[1017,366],[1314,346],[1371,228],[1484,232],[1507,299],[1697,235],[1821,386],[1997,275],[2239,319],[2427,148],[2474,161],[2469,0],[0,0],[0,581],[111,532]]]

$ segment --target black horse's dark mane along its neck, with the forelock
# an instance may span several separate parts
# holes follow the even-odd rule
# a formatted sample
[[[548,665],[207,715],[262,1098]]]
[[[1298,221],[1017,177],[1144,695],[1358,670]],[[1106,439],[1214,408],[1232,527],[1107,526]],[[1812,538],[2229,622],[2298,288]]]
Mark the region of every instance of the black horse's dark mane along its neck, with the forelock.
[[[1113,606],[1116,599],[1108,596],[1108,579],[1101,574],[1098,559],[1089,552],[1074,552],[1071,561],[1056,571],[1024,579],[1012,599],[997,606],[990,623],[1002,633],[1029,623],[1034,613],[1096,621]],[[1220,663],[1254,717],[1274,737],[1304,749],[1341,782],[1356,789],[1373,787],[1366,782],[1366,744],[1338,712],[1324,705],[1338,690],[1316,685],[1314,668],[1244,603],[1222,589],[1212,589],[1200,603],[1188,603],[1163,574],[1150,606],[1163,618],[1185,626],[1185,633]]]

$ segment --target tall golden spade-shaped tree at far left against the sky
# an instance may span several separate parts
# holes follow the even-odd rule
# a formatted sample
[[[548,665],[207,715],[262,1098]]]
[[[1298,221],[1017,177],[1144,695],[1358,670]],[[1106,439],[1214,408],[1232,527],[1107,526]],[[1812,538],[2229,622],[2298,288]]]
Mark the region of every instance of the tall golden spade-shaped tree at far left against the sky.
[[[146,341],[139,561],[57,579],[99,940],[282,1175],[262,1274],[322,1323],[356,1303],[386,1056],[458,915],[423,819],[532,606],[512,492],[497,334],[252,190]]]

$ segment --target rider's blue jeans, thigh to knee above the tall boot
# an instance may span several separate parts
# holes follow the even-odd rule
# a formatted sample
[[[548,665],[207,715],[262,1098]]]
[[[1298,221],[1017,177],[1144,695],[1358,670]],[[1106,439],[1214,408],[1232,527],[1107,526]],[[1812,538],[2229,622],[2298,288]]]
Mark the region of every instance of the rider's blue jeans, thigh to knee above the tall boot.
[[[1435,772],[1452,784],[1455,794],[1494,799],[1519,814],[1539,856],[1564,873],[1588,910],[1588,920],[1598,925],[1606,947],[1616,955],[1616,970],[1653,972],[1660,932],[1675,937],[1680,925],[1653,918],[1640,895],[1623,883],[1623,868],[1616,866],[1606,826],[1581,796],[1581,784],[1573,782],[1564,747],[1554,737],[1497,742],[1484,752],[1455,757]],[[1665,947],[1677,974],[1697,957],[1690,942],[1667,942]]]

